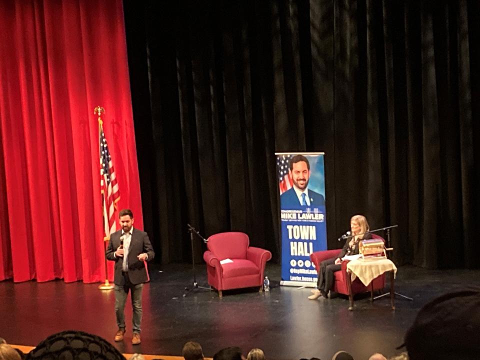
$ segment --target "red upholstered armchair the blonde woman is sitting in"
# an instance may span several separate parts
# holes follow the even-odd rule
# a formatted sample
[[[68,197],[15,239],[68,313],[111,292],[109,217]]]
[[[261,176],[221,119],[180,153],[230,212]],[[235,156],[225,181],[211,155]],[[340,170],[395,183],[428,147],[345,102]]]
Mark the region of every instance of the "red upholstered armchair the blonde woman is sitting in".
[[[380,238],[385,242],[385,239],[379,235],[376,234],[371,234],[373,238]],[[337,256],[340,253],[340,249],[336,250],[324,250],[324,251],[316,251],[310,254],[310,259],[311,261],[315,264],[315,269],[318,272],[320,270],[320,262],[332,257]],[[332,290],[344,295],[350,295],[348,293],[348,286],[346,283],[346,264],[348,263],[348,260],[343,260],[341,262],[341,269],[338,271],[335,271],[334,273],[334,283],[333,283],[333,288]],[[352,296],[356,293],[360,292],[367,292],[370,291],[370,298],[373,298],[373,291],[374,290],[381,290],[385,287],[385,274],[382,274],[378,277],[375,277],[373,281],[368,284],[368,286],[363,285],[363,283],[356,278],[354,281],[351,283],[351,292]]]

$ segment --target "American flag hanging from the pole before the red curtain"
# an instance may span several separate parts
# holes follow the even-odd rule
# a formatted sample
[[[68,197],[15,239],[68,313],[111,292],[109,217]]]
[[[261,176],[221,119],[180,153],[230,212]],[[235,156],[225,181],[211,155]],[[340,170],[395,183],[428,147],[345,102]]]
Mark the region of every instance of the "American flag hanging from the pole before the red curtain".
[[[100,151],[100,186],[102,193],[102,212],[105,236],[116,231],[115,210],[120,199],[115,169],[106,143],[101,120],[98,121],[98,143]]]

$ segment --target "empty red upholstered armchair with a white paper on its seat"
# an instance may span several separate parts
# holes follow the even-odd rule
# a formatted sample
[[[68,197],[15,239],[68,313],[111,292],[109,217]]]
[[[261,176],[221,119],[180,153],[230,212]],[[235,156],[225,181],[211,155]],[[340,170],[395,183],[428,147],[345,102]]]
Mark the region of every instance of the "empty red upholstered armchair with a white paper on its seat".
[[[206,262],[208,284],[218,290],[263,285],[263,272],[271,252],[248,246],[248,235],[243,232],[221,232],[208,237],[207,250],[203,253]],[[233,262],[220,264],[226,258]]]

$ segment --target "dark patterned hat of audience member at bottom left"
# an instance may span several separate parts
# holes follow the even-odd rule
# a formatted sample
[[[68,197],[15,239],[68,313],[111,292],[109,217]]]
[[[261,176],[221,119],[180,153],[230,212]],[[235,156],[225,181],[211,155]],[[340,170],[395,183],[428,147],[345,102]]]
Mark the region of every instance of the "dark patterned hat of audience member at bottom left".
[[[66,330],[48,336],[26,360],[125,360],[108,341],[83,331]]]

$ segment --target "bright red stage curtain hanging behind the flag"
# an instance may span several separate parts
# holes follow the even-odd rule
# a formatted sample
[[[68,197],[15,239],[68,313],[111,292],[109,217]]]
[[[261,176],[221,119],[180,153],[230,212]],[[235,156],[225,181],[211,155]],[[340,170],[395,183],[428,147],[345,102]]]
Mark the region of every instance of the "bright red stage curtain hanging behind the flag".
[[[104,279],[96,105],[143,227],[124,32],[121,0],[0,1],[0,280]]]

